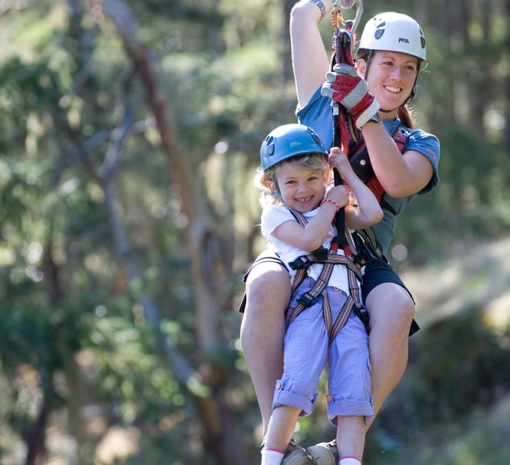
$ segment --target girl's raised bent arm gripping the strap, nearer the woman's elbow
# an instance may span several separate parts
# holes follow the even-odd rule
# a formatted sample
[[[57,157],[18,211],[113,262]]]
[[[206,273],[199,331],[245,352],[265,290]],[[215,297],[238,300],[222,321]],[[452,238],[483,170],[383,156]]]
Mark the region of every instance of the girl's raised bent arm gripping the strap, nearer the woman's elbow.
[[[356,198],[357,206],[345,207],[345,224],[348,228],[363,229],[380,222],[383,219],[383,210],[372,191],[356,176],[347,156],[339,148],[332,147],[329,162],[349,184]]]

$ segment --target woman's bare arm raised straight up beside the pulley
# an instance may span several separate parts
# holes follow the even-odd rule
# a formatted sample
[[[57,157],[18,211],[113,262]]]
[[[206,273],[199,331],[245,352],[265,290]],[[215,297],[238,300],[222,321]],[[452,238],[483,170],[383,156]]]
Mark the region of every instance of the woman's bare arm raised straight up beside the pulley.
[[[301,0],[291,11],[291,50],[298,104],[306,106],[329,70],[329,58],[319,32],[319,21],[332,0]]]

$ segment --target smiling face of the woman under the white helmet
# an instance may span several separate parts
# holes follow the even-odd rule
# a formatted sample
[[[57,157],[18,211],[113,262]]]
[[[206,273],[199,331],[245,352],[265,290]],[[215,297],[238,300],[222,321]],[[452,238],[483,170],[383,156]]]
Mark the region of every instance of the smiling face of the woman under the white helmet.
[[[358,71],[365,75],[367,63],[358,60]],[[415,56],[397,51],[375,51],[370,61],[367,83],[369,91],[376,97],[383,110],[383,119],[397,116],[402,105],[413,90],[417,73],[418,59]]]

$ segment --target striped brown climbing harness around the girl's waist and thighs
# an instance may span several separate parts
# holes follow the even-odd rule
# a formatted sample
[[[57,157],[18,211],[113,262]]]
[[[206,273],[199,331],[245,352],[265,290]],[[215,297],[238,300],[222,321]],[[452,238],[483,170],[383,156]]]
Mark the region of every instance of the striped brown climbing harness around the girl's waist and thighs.
[[[289,211],[301,226],[306,226],[308,222],[302,213],[292,210],[291,208],[289,208]],[[345,238],[348,241],[350,251],[356,254],[356,246],[354,245],[354,241],[352,240],[352,236],[350,235],[348,228],[345,228]],[[334,244],[332,243],[332,246],[333,245]],[[343,326],[345,326],[345,323],[349,319],[352,311],[358,315],[360,320],[365,325],[367,333],[369,333],[369,315],[367,309],[361,303],[361,292],[359,289],[359,283],[361,283],[362,278],[361,266],[356,260],[356,256],[352,254],[337,255],[337,248],[331,247],[330,250],[327,250],[326,248],[321,247],[314,252],[311,252],[310,254],[302,255],[294,261],[291,261],[289,266],[296,271],[291,288],[292,294],[294,294],[296,289],[298,289],[298,287],[300,287],[301,283],[304,281],[304,278],[306,278],[306,270],[308,267],[314,263],[322,264],[321,273],[319,274],[319,277],[317,278],[317,281],[315,281],[313,287],[298,297],[298,305],[292,310],[292,313],[288,318],[288,324],[291,324],[291,322],[293,322],[293,320],[295,320],[295,318],[304,309],[314,305],[319,297],[322,296],[322,313],[324,316],[324,324],[326,325],[326,331],[328,333],[330,344],[335,339],[335,337],[337,337],[337,334],[341,331]],[[326,292],[326,286],[328,286],[328,281],[331,277],[333,267],[335,265],[345,265],[347,267],[349,295],[347,300],[345,300],[345,303],[343,304],[337,319],[333,322],[332,311],[328,299],[328,294]]]

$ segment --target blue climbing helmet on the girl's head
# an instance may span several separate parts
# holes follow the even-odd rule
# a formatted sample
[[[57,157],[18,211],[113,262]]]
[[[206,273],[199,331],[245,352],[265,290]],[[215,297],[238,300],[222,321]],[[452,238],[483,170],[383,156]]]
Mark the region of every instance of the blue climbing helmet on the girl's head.
[[[269,132],[264,139],[260,147],[260,166],[265,171],[282,160],[306,154],[321,154],[328,159],[328,151],[312,128],[302,124],[284,124]]]

